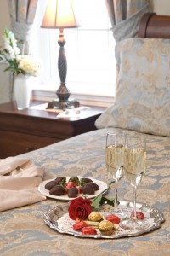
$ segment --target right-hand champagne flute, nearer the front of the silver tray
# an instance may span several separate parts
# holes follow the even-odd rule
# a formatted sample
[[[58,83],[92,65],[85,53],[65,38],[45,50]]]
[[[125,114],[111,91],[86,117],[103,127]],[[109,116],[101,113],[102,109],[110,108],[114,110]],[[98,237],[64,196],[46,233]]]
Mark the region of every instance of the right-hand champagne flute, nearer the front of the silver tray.
[[[122,222],[128,230],[142,230],[144,221],[137,219],[136,190],[142,182],[146,170],[146,143],[144,137],[127,137],[124,151],[124,172],[127,181],[133,186],[133,214]]]

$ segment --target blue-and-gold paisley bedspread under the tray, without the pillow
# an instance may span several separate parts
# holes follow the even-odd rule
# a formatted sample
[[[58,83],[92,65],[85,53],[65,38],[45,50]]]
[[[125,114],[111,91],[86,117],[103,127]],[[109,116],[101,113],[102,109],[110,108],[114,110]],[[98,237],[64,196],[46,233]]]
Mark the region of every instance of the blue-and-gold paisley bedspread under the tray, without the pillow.
[[[116,129],[91,131],[18,157],[29,158],[56,176],[87,176],[108,183],[105,137],[107,131],[112,130]],[[144,136],[147,140],[147,171],[139,184],[137,201],[163,213],[165,221],[159,229],[119,239],[63,235],[44,224],[43,214],[64,203],[48,198],[0,213],[0,255],[170,255],[170,138]],[[114,196],[113,188],[106,196]],[[133,201],[133,189],[125,177],[119,185],[119,198]]]

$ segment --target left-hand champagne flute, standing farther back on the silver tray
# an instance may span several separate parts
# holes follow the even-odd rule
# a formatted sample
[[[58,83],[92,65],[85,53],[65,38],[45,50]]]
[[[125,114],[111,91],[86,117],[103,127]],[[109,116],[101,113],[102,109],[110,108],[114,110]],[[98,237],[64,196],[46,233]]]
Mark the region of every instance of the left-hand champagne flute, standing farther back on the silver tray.
[[[106,137],[105,162],[107,171],[115,180],[116,200],[114,212],[120,218],[124,218],[123,212],[118,207],[117,184],[123,175],[125,136],[121,131],[108,132]]]

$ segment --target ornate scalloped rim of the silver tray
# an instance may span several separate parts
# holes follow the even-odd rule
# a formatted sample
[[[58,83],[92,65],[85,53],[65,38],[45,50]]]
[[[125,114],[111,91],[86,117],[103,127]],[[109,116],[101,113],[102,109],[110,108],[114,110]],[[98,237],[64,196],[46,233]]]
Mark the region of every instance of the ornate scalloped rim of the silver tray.
[[[132,207],[133,206],[133,202],[132,201],[120,201],[120,205],[125,205],[127,204],[127,206]],[[150,213],[153,213],[156,217],[156,222],[150,226],[150,228],[148,229],[144,229],[144,230],[139,230],[136,231],[135,233],[121,233],[121,235],[112,235],[112,236],[102,236],[102,235],[82,235],[81,233],[78,233],[77,231],[74,230],[61,230],[58,227],[58,223],[57,220],[55,220],[55,223],[53,223],[52,219],[51,219],[51,215],[54,214],[54,212],[60,207],[61,210],[63,210],[65,213],[68,212],[68,207],[69,207],[69,203],[63,203],[63,204],[59,204],[58,206],[54,207],[52,210],[49,210],[48,212],[44,213],[44,223],[47,224],[51,229],[57,230],[59,233],[61,234],[69,234],[71,236],[77,236],[77,237],[84,237],[84,238],[106,238],[106,239],[116,239],[116,238],[121,238],[121,237],[129,237],[129,236],[140,236],[143,235],[144,233],[150,233],[150,231],[152,230],[156,230],[158,228],[161,227],[161,223],[163,223],[165,221],[165,219],[163,218],[163,213],[161,213],[156,207],[150,207],[147,204],[143,204],[143,203],[137,203],[137,208],[139,209],[148,209],[148,211],[150,211]],[[57,217],[57,215],[56,215]],[[62,217],[58,216],[59,218]],[[59,219],[58,218],[58,219]]]

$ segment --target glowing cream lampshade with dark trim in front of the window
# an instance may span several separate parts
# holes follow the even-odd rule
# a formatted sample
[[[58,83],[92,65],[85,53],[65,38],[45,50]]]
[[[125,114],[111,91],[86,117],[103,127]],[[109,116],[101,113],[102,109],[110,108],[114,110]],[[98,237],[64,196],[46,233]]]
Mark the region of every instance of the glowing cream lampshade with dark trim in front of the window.
[[[67,28],[77,26],[71,0],[48,0],[41,27]]]

